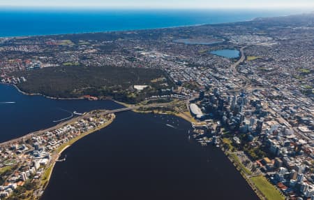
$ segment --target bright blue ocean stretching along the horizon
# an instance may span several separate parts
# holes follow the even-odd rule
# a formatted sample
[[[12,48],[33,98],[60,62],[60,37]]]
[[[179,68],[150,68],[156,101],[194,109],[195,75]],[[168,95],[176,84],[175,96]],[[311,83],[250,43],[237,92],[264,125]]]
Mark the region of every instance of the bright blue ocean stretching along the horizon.
[[[300,11],[0,8],[0,36],[73,34],[218,24],[298,12]]]

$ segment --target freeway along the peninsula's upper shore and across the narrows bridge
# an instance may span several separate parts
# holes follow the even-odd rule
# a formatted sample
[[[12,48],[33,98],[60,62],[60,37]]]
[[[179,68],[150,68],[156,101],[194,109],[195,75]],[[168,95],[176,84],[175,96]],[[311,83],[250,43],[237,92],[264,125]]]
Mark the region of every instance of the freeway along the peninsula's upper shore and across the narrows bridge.
[[[99,110],[100,112],[97,113],[98,115],[108,115],[108,114],[112,114],[112,113],[120,113],[120,112],[124,112],[124,111],[127,111],[127,110],[137,110],[139,108],[162,108],[162,107],[167,107],[167,106],[174,106],[175,104],[173,103],[152,103],[152,104],[149,104],[149,105],[145,105],[145,106],[130,106],[130,107],[126,107],[126,108],[119,108],[119,109],[114,109],[114,110]],[[3,142],[3,143],[0,143],[0,148],[4,148],[8,145],[13,145],[15,143],[18,143],[20,141],[27,141],[28,139],[34,137],[34,136],[40,136],[42,134],[44,134],[45,132],[47,131],[53,131],[54,129],[59,129],[61,127],[64,127],[66,126],[67,124],[72,124],[74,122],[77,122],[78,120],[81,120],[83,118],[89,118],[89,117],[92,117],[92,116],[95,116],[94,112],[91,111],[85,115],[81,115],[79,117],[75,117],[75,118],[72,118],[66,122],[61,122],[60,124],[57,124],[56,126],[54,127],[50,127],[48,129],[43,129],[43,130],[40,130],[40,131],[34,131],[32,133],[29,133],[27,135],[24,135],[24,136],[21,136],[19,138],[15,138],[15,139],[12,139],[10,141],[6,141],[6,142]]]

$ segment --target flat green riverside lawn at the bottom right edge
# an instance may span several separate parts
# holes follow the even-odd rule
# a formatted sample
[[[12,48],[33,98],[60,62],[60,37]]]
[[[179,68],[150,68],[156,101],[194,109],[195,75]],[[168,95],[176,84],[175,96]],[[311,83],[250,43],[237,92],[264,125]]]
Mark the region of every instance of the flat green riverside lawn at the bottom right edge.
[[[250,180],[254,183],[254,185],[257,187],[264,196],[269,200],[284,200],[285,197],[281,195],[278,190],[274,187],[274,185],[271,185],[269,181],[264,176],[256,176],[250,178]]]

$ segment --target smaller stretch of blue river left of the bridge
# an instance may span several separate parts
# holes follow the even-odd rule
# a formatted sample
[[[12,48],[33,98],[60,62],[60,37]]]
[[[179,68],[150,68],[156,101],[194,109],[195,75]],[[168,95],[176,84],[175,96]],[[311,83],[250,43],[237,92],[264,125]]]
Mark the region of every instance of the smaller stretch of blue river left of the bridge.
[[[6,103],[15,102],[15,103]],[[52,127],[73,111],[120,108],[113,101],[54,100],[17,92],[15,87],[0,84],[0,142],[31,131]]]

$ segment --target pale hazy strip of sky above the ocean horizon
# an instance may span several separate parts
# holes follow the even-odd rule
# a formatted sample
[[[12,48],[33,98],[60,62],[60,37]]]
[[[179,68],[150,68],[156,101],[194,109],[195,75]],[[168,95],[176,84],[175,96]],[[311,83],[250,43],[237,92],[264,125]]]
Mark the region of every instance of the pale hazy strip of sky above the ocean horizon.
[[[314,0],[0,0],[0,6],[314,9]]]

